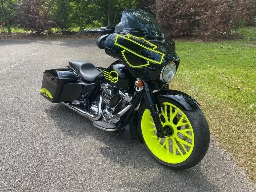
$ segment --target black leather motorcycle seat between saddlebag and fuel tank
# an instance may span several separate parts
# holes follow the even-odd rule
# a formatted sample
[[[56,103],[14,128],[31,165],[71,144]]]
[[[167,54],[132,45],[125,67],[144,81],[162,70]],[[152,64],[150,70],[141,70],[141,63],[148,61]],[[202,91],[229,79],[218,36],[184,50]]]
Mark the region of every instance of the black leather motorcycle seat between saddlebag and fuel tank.
[[[69,66],[72,67],[77,75],[85,81],[93,82],[93,80],[101,73],[92,63],[83,60],[70,60]]]

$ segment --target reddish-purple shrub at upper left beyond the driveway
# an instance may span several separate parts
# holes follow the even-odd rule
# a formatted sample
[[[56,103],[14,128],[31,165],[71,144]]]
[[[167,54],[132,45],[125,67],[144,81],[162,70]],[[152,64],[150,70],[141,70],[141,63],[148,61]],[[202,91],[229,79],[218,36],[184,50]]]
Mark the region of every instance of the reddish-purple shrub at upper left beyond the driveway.
[[[41,33],[55,27],[50,13],[52,1],[20,0],[17,3],[15,19],[21,28]]]

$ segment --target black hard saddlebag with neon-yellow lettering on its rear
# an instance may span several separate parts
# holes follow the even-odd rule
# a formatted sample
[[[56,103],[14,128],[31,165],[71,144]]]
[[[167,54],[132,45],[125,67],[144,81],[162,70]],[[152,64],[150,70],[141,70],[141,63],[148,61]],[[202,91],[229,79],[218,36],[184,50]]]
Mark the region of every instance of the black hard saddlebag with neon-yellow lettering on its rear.
[[[68,69],[50,69],[44,72],[41,95],[52,103],[74,101],[80,96],[80,89],[72,86],[78,78]]]

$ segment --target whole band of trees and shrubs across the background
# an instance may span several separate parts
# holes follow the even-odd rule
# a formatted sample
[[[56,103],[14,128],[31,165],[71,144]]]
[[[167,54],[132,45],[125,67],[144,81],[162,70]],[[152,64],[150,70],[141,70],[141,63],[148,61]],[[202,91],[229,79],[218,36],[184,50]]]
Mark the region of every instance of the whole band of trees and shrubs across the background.
[[[0,0],[0,22],[41,33],[117,25],[122,11],[141,8],[171,37],[229,36],[255,24],[256,0]],[[1,24],[1,23],[0,23]]]

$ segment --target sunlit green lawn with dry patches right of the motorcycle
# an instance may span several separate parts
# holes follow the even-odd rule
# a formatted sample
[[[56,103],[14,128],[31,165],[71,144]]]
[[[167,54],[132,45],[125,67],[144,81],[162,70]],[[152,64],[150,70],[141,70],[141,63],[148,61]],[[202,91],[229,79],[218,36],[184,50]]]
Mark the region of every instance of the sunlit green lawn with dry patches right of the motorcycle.
[[[256,181],[256,27],[238,33],[245,38],[176,41],[181,63],[170,87],[202,104],[210,132]]]

